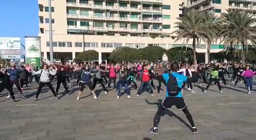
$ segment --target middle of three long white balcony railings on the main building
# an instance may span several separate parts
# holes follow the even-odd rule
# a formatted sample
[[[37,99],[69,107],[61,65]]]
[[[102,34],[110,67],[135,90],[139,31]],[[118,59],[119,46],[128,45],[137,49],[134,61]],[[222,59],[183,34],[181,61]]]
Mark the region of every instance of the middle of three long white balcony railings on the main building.
[[[104,20],[162,22],[162,18],[130,18],[130,17],[117,17],[117,16],[83,15],[83,14],[67,14],[67,17],[68,18],[95,18],[95,19],[104,19]]]

